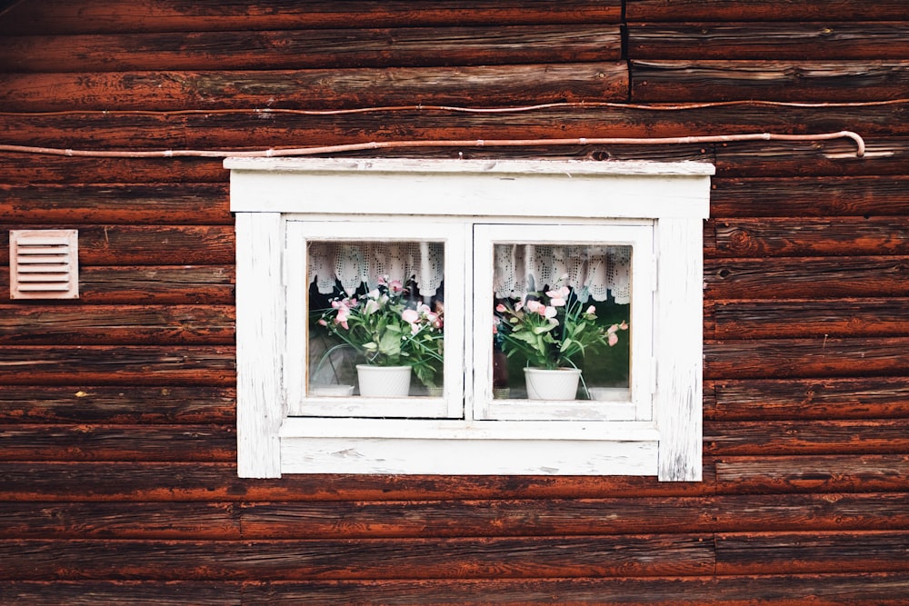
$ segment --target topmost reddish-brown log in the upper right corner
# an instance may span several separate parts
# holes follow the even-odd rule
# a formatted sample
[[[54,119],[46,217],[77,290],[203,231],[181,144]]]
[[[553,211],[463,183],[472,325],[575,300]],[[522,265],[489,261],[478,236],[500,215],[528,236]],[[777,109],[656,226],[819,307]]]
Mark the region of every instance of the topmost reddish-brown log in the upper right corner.
[[[628,0],[629,21],[904,21],[902,0],[882,0],[874,5],[849,0]]]

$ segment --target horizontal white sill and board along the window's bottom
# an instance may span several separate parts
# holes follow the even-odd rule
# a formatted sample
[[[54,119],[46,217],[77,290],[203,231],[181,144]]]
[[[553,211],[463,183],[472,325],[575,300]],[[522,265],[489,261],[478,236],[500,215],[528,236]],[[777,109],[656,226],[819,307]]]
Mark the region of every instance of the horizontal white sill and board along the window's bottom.
[[[624,425],[626,427],[618,427]],[[639,423],[289,419],[288,473],[655,475],[657,434]]]

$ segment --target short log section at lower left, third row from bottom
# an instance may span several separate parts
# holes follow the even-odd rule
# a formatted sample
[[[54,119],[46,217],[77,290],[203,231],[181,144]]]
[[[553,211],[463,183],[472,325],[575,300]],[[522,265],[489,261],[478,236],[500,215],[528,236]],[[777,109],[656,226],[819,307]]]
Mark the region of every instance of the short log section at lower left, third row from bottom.
[[[0,538],[235,541],[236,510],[227,502],[0,502]]]

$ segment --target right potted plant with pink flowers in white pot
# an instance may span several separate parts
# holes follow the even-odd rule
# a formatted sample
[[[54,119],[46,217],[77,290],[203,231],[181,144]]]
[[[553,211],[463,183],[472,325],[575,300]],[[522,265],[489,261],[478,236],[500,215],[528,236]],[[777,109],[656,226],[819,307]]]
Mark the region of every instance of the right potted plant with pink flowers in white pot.
[[[556,284],[553,290],[495,306],[494,331],[501,334],[504,353],[521,353],[526,359],[528,398],[574,400],[581,378],[576,362],[586,353],[613,347],[619,331],[628,330],[626,322],[596,323],[596,307],[587,299],[585,288],[574,292]]]

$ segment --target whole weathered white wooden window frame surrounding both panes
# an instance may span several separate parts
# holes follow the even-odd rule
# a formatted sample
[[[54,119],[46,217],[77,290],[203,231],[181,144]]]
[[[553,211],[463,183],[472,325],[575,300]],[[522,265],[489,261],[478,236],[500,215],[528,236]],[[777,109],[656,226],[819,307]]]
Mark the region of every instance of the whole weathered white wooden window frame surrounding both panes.
[[[237,236],[241,477],[418,473],[701,479],[702,230],[709,213],[712,165],[229,158],[225,167],[231,169]],[[474,360],[489,359],[484,348],[491,342],[478,336],[464,339],[467,386],[461,400],[462,386],[455,383],[446,342],[447,391],[442,403],[451,410],[464,406],[463,418],[292,415],[289,402],[300,401],[301,382],[286,372],[285,364],[300,362],[300,346],[292,343],[299,343],[297,335],[305,334],[305,322],[288,312],[288,302],[299,301],[294,298],[303,294],[294,293],[299,286],[293,284],[300,280],[288,280],[288,272],[295,271],[293,265],[299,262],[289,261],[289,247],[297,239],[288,238],[287,233],[297,229],[293,222],[329,220],[428,220],[471,228],[486,223],[612,224],[619,233],[624,224],[652,225],[652,333],[638,331],[649,334],[652,343],[648,361],[652,418],[638,415],[635,420],[611,421],[581,415],[542,420],[534,414],[507,418],[491,411],[493,404],[485,393],[477,396],[483,400],[477,405],[471,401],[472,376],[488,372],[484,369],[489,364],[474,365]],[[464,233],[465,242],[470,237]],[[637,248],[635,255],[641,252]],[[446,256],[446,271],[450,263]],[[464,284],[471,284],[474,267],[464,264]],[[640,293],[640,286],[635,288]],[[474,302],[474,308],[483,310],[483,305],[480,299]],[[485,321],[483,316],[491,320],[487,314],[491,311],[477,313],[478,322]],[[446,301],[446,333],[456,315],[456,307],[451,313]],[[633,358],[633,363],[641,361]],[[478,418],[474,410],[484,412]],[[295,412],[299,411],[295,408]]]

